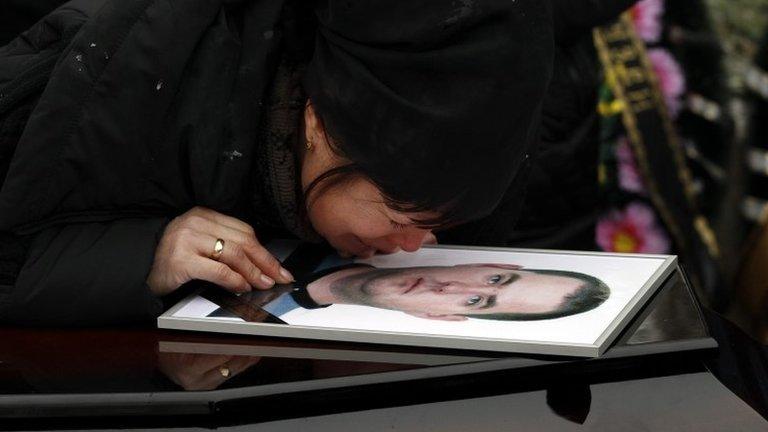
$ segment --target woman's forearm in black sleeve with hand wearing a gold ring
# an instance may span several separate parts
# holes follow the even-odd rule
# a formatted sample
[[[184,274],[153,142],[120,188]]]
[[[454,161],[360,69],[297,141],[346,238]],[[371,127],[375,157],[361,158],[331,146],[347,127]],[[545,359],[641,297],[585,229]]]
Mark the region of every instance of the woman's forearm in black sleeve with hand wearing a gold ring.
[[[193,279],[244,292],[293,276],[248,224],[204,207],[173,219],[59,225],[36,235],[15,285],[0,293],[0,323],[147,323],[162,312],[160,297]]]

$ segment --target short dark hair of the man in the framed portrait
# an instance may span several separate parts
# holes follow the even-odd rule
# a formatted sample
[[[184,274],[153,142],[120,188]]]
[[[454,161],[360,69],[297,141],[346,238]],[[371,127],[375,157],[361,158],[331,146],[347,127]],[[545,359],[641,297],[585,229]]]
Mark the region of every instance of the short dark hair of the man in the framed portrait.
[[[557,309],[541,313],[495,313],[495,314],[467,314],[470,318],[501,320],[501,321],[535,321],[554,319],[592,310],[605,302],[611,295],[608,285],[600,279],[585,273],[565,270],[527,270],[532,273],[563,276],[584,281],[584,285],[576,291],[564,297]]]

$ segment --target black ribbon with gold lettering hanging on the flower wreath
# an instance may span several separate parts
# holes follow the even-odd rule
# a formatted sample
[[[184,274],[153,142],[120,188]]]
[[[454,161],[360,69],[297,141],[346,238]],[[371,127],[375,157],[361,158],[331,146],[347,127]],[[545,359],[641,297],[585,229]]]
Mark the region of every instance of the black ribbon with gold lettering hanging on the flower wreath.
[[[701,263],[702,249],[709,262],[716,262],[720,256],[717,238],[697,210],[683,149],[631,17],[625,13],[617,21],[596,28],[594,40],[615,97],[598,109],[603,115],[621,115],[651,201],[680,252],[697,256],[698,264],[692,265],[698,267],[706,266]]]

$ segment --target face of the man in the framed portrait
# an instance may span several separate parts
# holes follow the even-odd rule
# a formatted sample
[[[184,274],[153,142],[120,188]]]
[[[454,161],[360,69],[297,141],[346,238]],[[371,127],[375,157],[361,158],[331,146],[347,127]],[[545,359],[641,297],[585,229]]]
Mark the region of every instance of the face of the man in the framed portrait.
[[[556,310],[584,281],[539,274],[516,265],[376,269],[334,282],[333,292],[357,304],[451,321],[465,315]]]

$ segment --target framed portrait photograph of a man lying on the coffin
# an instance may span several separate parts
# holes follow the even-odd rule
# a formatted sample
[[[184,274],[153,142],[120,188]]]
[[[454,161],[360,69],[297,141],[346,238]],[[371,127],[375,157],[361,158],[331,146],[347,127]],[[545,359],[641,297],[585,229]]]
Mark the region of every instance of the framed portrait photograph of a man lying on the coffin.
[[[269,248],[284,263],[297,253],[291,242]],[[204,288],[159,317],[158,326],[597,357],[676,261],[670,255],[447,245],[368,259],[328,254],[294,273],[290,285],[240,295]]]

